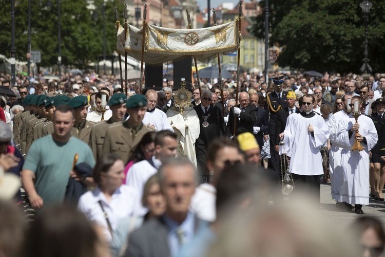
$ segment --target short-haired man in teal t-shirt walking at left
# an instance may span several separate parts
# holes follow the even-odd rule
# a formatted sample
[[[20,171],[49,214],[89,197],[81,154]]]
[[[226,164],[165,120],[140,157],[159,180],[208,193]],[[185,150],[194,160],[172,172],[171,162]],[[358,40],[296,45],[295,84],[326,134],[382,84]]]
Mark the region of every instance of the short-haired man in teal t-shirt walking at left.
[[[71,136],[75,122],[73,109],[60,105],[53,116],[54,132],[34,141],[24,162],[22,181],[32,208],[41,210],[64,202],[70,176],[93,186],[90,177],[81,178],[72,171],[75,155],[77,163],[86,162],[94,167],[88,144]]]

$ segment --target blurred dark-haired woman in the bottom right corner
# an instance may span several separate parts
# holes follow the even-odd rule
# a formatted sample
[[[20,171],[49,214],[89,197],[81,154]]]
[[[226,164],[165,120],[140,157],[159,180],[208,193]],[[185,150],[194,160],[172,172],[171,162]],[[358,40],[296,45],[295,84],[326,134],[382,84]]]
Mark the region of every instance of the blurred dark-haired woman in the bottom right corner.
[[[356,219],[351,229],[358,237],[363,257],[382,256],[385,246],[385,232],[378,218],[363,216]]]

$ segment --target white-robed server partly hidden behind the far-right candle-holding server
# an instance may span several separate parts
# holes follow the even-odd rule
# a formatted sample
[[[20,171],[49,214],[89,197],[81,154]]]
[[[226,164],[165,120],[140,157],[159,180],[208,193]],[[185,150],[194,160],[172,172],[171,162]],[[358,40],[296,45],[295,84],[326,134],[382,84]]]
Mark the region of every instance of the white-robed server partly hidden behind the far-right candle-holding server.
[[[341,151],[342,145],[337,142],[337,128],[338,123],[343,117],[348,117],[350,114],[350,108],[348,109],[348,99],[352,98],[351,95],[345,94],[342,99],[337,99],[335,104],[342,104],[342,110],[333,114],[332,118],[328,121],[329,131],[330,131],[330,142],[332,144],[329,151],[329,164],[330,164],[330,180],[331,180],[331,188],[332,188],[332,199],[336,199],[336,207],[337,208],[349,208],[348,204],[343,204],[338,201],[339,199],[339,190],[342,186],[343,182],[343,171],[342,171],[342,163],[341,163]]]

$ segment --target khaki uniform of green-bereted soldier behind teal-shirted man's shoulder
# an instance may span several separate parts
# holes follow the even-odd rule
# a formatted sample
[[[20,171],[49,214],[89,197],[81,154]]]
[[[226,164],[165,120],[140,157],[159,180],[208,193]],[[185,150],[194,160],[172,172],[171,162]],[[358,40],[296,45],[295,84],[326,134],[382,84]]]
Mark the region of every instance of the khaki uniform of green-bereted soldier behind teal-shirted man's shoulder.
[[[111,119],[108,119],[107,121],[102,121],[93,125],[91,130],[90,147],[95,160],[98,160],[98,158],[102,155],[104,138],[108,130],[108,127],[110,127],[111,125],[122,124],[122,123],[123,121],[113,123]]]

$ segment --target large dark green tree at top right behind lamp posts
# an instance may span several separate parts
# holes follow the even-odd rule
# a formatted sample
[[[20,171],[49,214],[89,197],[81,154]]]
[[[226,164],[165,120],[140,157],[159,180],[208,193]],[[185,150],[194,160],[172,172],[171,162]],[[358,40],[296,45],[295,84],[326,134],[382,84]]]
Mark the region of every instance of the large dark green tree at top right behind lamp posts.
[[[362,0],[361,0],[362,1]],[[269,0],[269,45],[282,46],[280,66],[306,70],[359,72],[364,50],[364,18],[357,0]],[[385,60],[385,1],[371,0],[369,59],[374,72]],[[265,2],[261,1],[263,8]],[[264,39],[264,15],[251,33]]]

